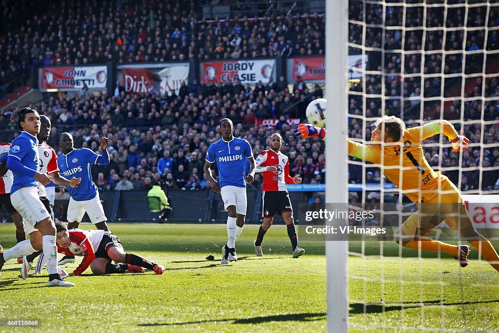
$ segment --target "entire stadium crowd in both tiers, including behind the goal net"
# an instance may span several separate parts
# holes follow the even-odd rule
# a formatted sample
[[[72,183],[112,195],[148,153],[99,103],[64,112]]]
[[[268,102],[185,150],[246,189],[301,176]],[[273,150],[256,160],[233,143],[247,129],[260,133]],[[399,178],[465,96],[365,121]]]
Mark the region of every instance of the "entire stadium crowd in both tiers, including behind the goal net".
[[[83,2],[48,1],[40,7],[28,5],[28,1],[5,2],[0,24],[0,94],[11,90],[9,82],[24,81],[31,67],[43,65],[77,65],[102,63],[175,61],[183,59],[219,59],[265,56],[320,55],[324,53],[323,15],[300,14],[283,16],[215,17],[201,18],[202,1],[141,1],[120,0]],[[148,10],[144,8],[148,8]],[[350,1],[350,19],[362,21],[364,17],[361,1]],[[446,27],[464,25],[464,7],[450,7]],[[378,94],[379,98],[366,98],[366,105],[360,93],[364,83],[351,88],[349,113],[367,118],[383,114],[400,115],[404,118],[420,118],[420,97],[440,94],[442,81],[439,75],[452,73],[474,73],[481,71],[479,54],[471,54],[463,61],[461,54],[465,40],[464,30],[423,28],[402,34],[402,29],[383,29],[381,5],[365,5],[366,35],[360,24],[350,24],[350,53],[360,53],[363,40],[367,47],[384,49],[370,52],[371,69],[383,71],[384,75],[366,75],[365,92]],[[407,7],[406,26],[438,27],[443,8],[431,7],[423,22],[423,7]],[[467,14],[467,26],[485,24],[481,7],[472,7]],[[489,26],[499,25],[499,7],[491,7]],[[20,17],[28,19],[19,19]],[[402,6],[386,6],[386,26],[400,26]],[[31,18],[32,17],[32,18]],[[437,22],[437,23],[435,23]],[[385,35],[383,35],[383,31]],[[425,43],[423,44],[423,34]],[[491,30],[485,45],[484,30],[470,30],[466,35],[466,50],[488,50],[499,48],[496,30]],[[405,36],[405,38],[403,37]],[[444,40],[445,36],[445,40]],[[383,42],[384,41],[384,42]],[[358,44],[359,47],[354,47]],[[422,58],[422,48],[427,52]],[[399,52],[404,48],[406,55]],[[450,51],[444,57],[442,49]],[[382,67],[382,63],[384,67]],[[463,69],[463,63],[466,67]],[[479,68],[480,67],[480,68]],[[421,77],[424,76],[422,80]],[[430,76],[428,76],[430,75]],[[460,78],[457,78],[458,80]],[[384,81],[383,81],[384,80]],[[483,82],[477,79],[477,88],[468,96],[480,96]],[[497,78],[485,82],[486,96],[498,96]],[[384,89],[384,91],[383,91]],[[478,90],[477,90],[478,89]],[[51,97],[36,108],[48,115],[54,130],[49,144],[57,146],[58,133],[74,133],[76,147],[98,149],[101,136],[111,139],[110,166],[96,167],[94,179],[102,189],[147,189],[156,180],[168,182],[170,188],[209,188],[202,175],[202,164],[208,145],[219,139],[216,130],[218,120],[228,116],[237,124],[236,136],[250,141],[253,153],[266,148],[270,129],[254,126],[257,119],[280,118],[277,130],[284,134],[286,146],[283,152],[289,154],[291,173],[303,176],[304,183],[324,181],[324,145],[319,140],[299,142],[292,136],[287,118],[305,119],[304,110],[312,98],[322,97],[319,86],[288,90],[284,77],[267,85],[255,87],[241,82],[212,84],[210,82],[185,85],[179,96],[136,96],[125,95],[120,89],[116,96],[90,93],[87,96],[71,95]],[[387,97],[382,109],[382,97]],[[439,102],[440,103],[440,102]],[[438,103],[438,104],[439,104]],[[460,120],[462,109],[465,120],[481,117],[481,100],[455,101],[444,110],[443,117]],[[436,102],[426,103],[423,108],[425,120],[440,118]],[[499,105],[488,101],[484,120],[495,120]],[[1,111],[0,126],[16,128],[15,116],[18,109]],[[407,119],[405,119],[407,121]],[[407,121],[408,125],[412,124]],[[417,124],[417,123],[415,123]],[[369,139],[370,127],[355,117],[350,118],[350,137]],[[497,163],[497,149],[485,148],[480,154],[481,127],[466,125],[465,135],[470,137],[470,154],[463,158],[463,166],[494,166]],[[497,142],[497,125],[484,127],[484,143]],[[477,155],[477,152],[478,156]],[[441,168],[453,179],[458,165],[457,155],[444,148],[443,154],[428,149],[427,158],[432,165]],[[437,157],[438,155],[438,161]],[[366,177],[379,181],[379,171],[373,170]],[[476,170],[466,170],[461,180],[464,189],[480,187]],[[490,175],[489,175],[490,173]],[[259,185],[259,175],[253,186]],[[486,177],[487,176],[487,177]],[[482,175],[481,187],[494,188],[497,170],[486,170]],[[489,179],[489,180],[487,180]],[[361,182],[362,171],[351,166],[350,181]],[[457,183],[457,182],[456,182]]]

